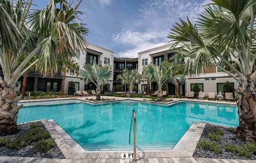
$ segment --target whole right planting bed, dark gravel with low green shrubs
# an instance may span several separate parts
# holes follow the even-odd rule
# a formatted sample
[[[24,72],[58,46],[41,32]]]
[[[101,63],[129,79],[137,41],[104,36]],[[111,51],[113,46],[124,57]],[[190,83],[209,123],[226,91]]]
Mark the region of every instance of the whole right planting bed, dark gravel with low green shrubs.
[[[235,128],[206,124],[193,157],[256,159],[256,144],[238,139]]]

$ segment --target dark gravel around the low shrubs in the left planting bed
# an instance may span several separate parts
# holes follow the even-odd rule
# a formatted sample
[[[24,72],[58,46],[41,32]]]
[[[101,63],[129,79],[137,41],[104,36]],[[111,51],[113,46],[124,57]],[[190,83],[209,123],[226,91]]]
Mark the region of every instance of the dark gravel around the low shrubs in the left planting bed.
[[[44,127],[43,123],[41,121],[37,122],[38,127],[40,127],[42,130],[47,131],[47,129]],[[12,134],[12,135],[0,135],[1,137],[5,138],[11,138],[15,139],[22,133],[25,133],[27,130],[30,130],[30,123],[25,123],[18,125],[18,133]],[[9,149],[7,147],[1,147],[0,146],[0,156],[20,156],[20,157],[37,157],[37,158],[59,158],[63,159],[65,158],[62,152],[60,151],[59,147],[55,145],[52,149],[45,151],[45,152],[38,152],[34,149],[34,146],[32,143],[31,145],[28,145],[27,147],[21,148],[21,149]]]

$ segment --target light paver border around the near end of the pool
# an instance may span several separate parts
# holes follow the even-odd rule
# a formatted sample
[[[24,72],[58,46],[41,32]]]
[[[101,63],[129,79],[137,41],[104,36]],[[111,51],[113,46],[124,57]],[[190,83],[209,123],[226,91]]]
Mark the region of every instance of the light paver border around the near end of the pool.
[[[85,151],[82,147],[69,136],[54,120],[42,121],[66,159],[97,159],[97,158],[121,158],[122,153],[131,153],[133,151]],[[55,123],[54,123],[55,122]],[[22,123],[23,124],[23,123]],[[150,150],[141,151],[143,158],[172,158],[172,157],[192,157],[197,143],[201,138],[204,122],[194,122],[185,132],[181,139],[176,143],[172,150]],[[182,147],[178,147],[182,146]]]

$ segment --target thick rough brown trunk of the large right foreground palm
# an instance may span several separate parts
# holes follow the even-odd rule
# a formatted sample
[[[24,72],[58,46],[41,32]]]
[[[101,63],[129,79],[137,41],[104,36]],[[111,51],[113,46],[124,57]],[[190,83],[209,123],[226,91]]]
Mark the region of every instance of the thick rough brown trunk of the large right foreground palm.
[[[249,79],[247,82],[236,90],[239,115],[236,134],[239,138],[256,141],[256,81]]]

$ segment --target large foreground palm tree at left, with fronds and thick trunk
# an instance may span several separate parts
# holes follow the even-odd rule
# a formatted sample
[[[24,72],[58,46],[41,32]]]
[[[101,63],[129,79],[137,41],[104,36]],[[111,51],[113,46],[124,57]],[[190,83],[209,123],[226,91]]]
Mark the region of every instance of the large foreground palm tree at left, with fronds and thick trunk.
[[[17,96],[20,85],[16,82],[28,69],[37,63],[41,74],[53,75],[58,60],[68,62],[86,50],[88,30],[79,23],[80,3],[73,6],[66,0],[49,0],[42,10],[30,12],[31,4],[32,0],[0,0],[0,65],[4,73],[0,77],[0,132],[17,129],[18,110],[23,105],[17,104],[22,95]],[[29,54],[17,66],[24,51]],[[36,54],[38,59],[27,66]]]

